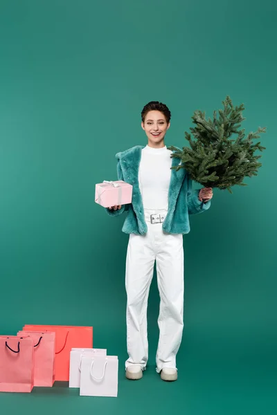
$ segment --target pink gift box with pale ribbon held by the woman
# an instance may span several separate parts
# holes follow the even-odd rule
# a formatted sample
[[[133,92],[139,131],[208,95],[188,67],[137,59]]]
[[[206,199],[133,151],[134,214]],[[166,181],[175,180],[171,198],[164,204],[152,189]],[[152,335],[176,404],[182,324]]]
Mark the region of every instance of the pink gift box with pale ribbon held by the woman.
[[[125,181],[103,181],[96,184],[95,201],[104,208],[132,202],[133,186]]]

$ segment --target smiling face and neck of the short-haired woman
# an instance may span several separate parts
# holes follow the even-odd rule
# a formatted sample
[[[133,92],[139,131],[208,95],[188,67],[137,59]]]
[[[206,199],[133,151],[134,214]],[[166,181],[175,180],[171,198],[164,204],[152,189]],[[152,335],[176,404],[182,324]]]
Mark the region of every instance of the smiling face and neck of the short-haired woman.
[[[141,127],[148,136],[148,145],[150,147],[163,147],[166,131],[170,127],[170,122],[166,122],[166,117],[160,111],[149,111]]]

